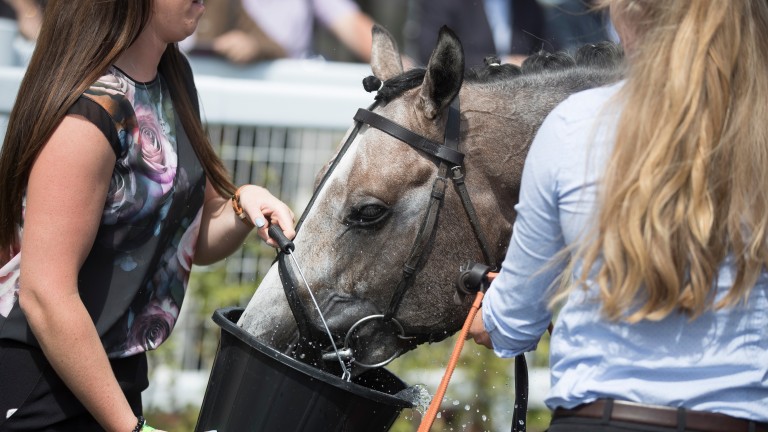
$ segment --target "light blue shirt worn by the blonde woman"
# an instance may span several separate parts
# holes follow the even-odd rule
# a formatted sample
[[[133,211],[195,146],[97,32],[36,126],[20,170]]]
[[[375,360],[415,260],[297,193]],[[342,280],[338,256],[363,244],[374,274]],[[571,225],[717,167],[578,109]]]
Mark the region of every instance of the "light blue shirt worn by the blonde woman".
[[[501,357],[534,350],[552,318],[546,291],[562,270],[552,258],[594,220],[596,181],[621,110],[611,98],[621,85],[571,96],[534,139],[509,250],[483,301],[485,327]],[[733,274],[726,260],[716,299]],[[657,322],[610,322],[600,308],[593,286],[574,290],[560,310],[550,342],[550,408],[612,397],[768,421],[766,274],[746,305],[694,321],[673,313]]]

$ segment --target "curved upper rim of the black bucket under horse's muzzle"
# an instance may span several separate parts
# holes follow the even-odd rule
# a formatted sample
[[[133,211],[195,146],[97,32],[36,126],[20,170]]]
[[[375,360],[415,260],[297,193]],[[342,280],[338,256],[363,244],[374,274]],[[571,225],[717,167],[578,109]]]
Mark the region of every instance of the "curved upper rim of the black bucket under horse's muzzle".
[[[411,401],[402,399],[400,397],[397,397],[389,393],[384,393],[382,391],[374,390],[372,388],[363,386],[361,384],[358,384],[352,381],[345,381],[341,377],[330,374],[328,372],[320,370],[306,363],[302,363],[299,360],[296,360],[293,357],[285,355],[277,351],[276,349],[264,344],[263,342],[257,340],[254,335],[248,333],[247,331],[245,331],[245,329],[237,325],[237,321],[240,319],[240,315],[242,315],[244,310],[245,310],[244,308],[237,307],[237,306],[224,307],[224,308],[217,309],[213,313],[213,317],[212,317],[213,322],[218,324],[221,327],[222,331],[226,331],[230,333],[231,335],[235,336],[237,339],[241,340],[246,345],[255,349],[259,353],[267,357],[270,357],[273,360],[279,362],[280,364],[283,364],[302,374],[308,375],[312,379],[322,381],[323,383],[326,383],[328,385],[356,394],[358,396],[365,397],[375,402],[385,403],[387,405],[391,405],[399,408],[415,407],[414,403]],[[402,382],[396,375],[394,375],[392,372],[390,372],[386,368],[382,367],[377,369],[381,369],[386,374],[389,374],[393,376],[395,379],[397,379],[398,381]],[[408,387],[407,384],[405,383],[403,383],[403,385],[406,388]]]

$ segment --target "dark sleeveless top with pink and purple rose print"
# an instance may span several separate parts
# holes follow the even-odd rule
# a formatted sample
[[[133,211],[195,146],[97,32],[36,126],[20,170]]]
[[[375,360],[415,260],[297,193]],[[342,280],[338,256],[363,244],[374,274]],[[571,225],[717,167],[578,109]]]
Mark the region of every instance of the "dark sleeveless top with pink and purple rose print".
[[[191,72],[188,78],[194,92]],[[109,357],[154,349],[173,329],[184,299],[203,168],[162,76],[135,82],[112,67],[69,113],[98,126],[116,155],[96,240],[79,273],[80,297]],[[0,268],[0,338],[37,345],[18,306],[23,251],[15,252]]]

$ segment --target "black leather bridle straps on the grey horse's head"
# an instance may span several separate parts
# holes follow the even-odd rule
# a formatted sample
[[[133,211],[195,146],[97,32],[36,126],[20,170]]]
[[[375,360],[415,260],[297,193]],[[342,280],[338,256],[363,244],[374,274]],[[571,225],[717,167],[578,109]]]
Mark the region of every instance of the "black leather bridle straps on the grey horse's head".
[[[330,178],[330,175],[332,174],[333,170],[336,168],[338,163],[343,158],[344,154],[346,153],[351,143],[354,141],[355,137],[359,133],[360,128],[362,127],[363,124],[376,128],[382,132],[385,132],[386,134],[410,145],[414,149],[426,154],[426,156],[433,159],[438,165],[437,176],[435,177],[435,180],[432,184],[432,191],[431,191],[429,203],[427,206],[427,212],[424,216],[424,219],[422,220],[421,227],[419,228],[419,232],[417,234],[416,240],[414,241],[414,244],[408,255],[408,259],[403,265],[402,278],[400,279],[400,282],[398,283],[397,287],[395,288],[395,291],[392,294],[392,297],[389,302],[389,306],[387,307],[387,310],[385,311],[385,313],[383,315],[369,316],[369,317],[363,318],[363,320],[358,322],[359,324],[360,322],[370,318],[377,318],[377,319],[380,318],[385,322],[393,322],[396,325],[396,328],[398,328],[401,333],[404,333],[403,327],[402,325],[400,325],[399,322],[397,322],[395,315],[397,313],[397,310],[400,304],[403,301],[405,293],[413,285],[413,281],[415,280],[415,276],[417,272],[420,270],[420,268],[424,264],[423,257],[424,257],[425,251],[429,250],[429,246],[434,240],[434,233],[437,227],[438,215],[440,213],[440,209],[442,208],[442,204],[444,202],[446,184],[448,183],[449,178],[459,195],[462,206],[464,207],[465,213],[467,214],[467,218],[475,234],[475,238],[477,239],[477,242],[480,245],[480,249],[482,251],[485,262],[489,266],[491,266],[492,270],[494,271],[497,267],[495,263],[491,261],[492,257],[491,257],[488,241],[480,227],[479,218],[477,216],[475,207],[472,204],[472,200],[470,199],[469,192],[467,191],[467,187],[464,182],[464,154],[459,151],[459,144],[460,144],[459,137],[460,137],[461,122],[460,122],[460,106],[459,106],[458,95],[454,98],[453,102],[448,107],[448,114],[447,114],[448,118],[446,120],[446,126],[445,126],[445,137],[444,137],[444,143],[442,144],[432,141],[416,132],[413,132],[409,129],[406,129],[400,126],[399,124],[387,119],[386,117],[376,114],[375,112],[373,112],[373,109],[375,109],[378,104],[379,102],[375,102],[368,109],[360,108],[357,110],[357,113],[354,116],[354,120],[355,120],[354,128],[350,132],[349,137],[347,138],[342,148],[339,150],[334,161],[329,166],[328,170],[323,176],[323,179],[321,180],[317,189],[315,189],[315,193],[312,195],[312,198],[310,199],[304,214],[299,219],[299,223],[297,224],[296,230],[298,231],[309,209],[311,209],[312,206],[314,205],[319,191],[323,188],[326,181]],[[449,177],[449,174],[450,174],[450,177]],[[283,285],[283,289],[285,291],[286,298],[288,299],[288,304],[290,305],[294,319],[296,320],[296,323],[298,326],[299,347],[300,347],[299,349],[301,350],[300,357],[303,359],[303,361],[314,364],[315,366],[321,369],[326,369],[326,366],[322,361],[321,346],[323,346],[323,344],[321,344],[321,341],[326,340],[328,336],[323,329],[321,329],[317,324],[315,324],[309,318],[307,309],[304,306],[304,303],[301,301],[297,292],[298,283],[296,282],[295,278],[291,275],[291,272],[289,271],[288,266],[286,264],[285,254],[282,251],[278,253],[277,260],[278,260],[278,271],[279,271],[280,279]],[[398,337],[403,339],[412,339],[412,338],[415,338],[416,336],[406,336],[405,334],[401,334],[401,335],[398,335]],[[427,338],[426,340],[432,340],[433,336],[427,335],[426,338]],[[306,347],[311,347],[311,349],[307,350]],[[401,354],[400,352],[396,352],[391,358],[387,359],[385,362],[382,362],[376,365],[365,365],[359,362],[357,362],[357,364],[366,368],[384,366],[385,364],[394,360],[400,354]],[[297,353],[294,353],[294,355],[297,355]],[[527,366],[525,363],[525,357],[523,355],[517,356],[515,358],[515,364],[516,364],[515,366],[516,404],[514,409],[512,427],[513,427],[513,431],[524,432],[525,431],[525,413],[527,411],[527,397],[528,397]],[[522,418],[522,421],[520,421],[520,418]]]

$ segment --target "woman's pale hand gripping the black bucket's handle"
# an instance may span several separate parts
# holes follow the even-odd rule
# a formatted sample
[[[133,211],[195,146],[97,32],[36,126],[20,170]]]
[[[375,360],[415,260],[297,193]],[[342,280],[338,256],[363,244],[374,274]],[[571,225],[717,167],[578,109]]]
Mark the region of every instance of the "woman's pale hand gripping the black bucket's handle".
[[[272,224],[279,225],[288,239],[293,239],[296,236],[296,231],[293,229],[293,211],[263,187],[256,185],[242,187],[240,189],[240,206],[256,226],[256,233],[268,245],[277,247],[277,243],[267,233],[267,229]]]

